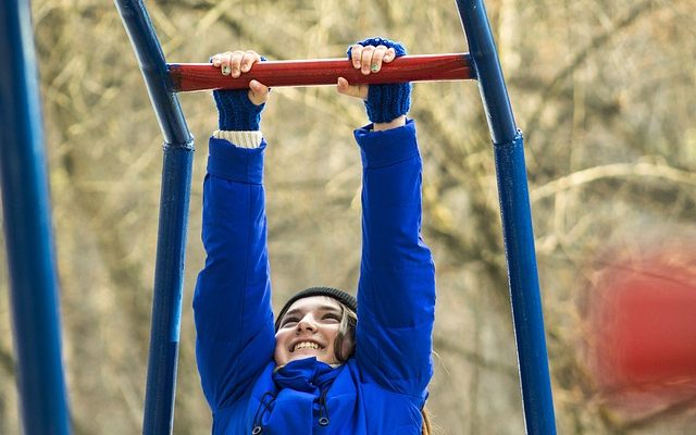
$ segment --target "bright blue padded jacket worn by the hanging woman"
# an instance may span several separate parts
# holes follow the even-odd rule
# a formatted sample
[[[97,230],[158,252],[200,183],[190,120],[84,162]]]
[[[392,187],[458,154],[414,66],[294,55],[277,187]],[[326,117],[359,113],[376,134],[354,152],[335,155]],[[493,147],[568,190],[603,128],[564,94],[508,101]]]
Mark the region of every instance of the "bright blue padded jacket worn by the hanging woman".
[[[433,374],[435,273],[420,237],[415,125],[355,132],[363,164],[356,355],[276,370],[263,152],[210,139],[206,266],[194,296],[196,355],[213,434],[421,433]],[[258,431],[258,428],[257,428]]]

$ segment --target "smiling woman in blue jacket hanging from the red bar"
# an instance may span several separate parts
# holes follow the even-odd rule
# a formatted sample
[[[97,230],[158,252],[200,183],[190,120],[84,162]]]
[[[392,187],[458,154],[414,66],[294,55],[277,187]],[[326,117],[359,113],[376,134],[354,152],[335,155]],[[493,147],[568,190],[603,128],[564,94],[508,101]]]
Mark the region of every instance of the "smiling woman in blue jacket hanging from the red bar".
[[[348,57],[378,74],[406,51],[371,38]],[[260,57],[215,54],[238,77]],[[435,278],[420,238],[421,169],[409,84],[351,86],[370,125],[355,132],[363,164],[358,299],[335,288],[295,295],[273,321],[259,130],[269,88],[215,91],[220,130],[210,139],[203,245],[194,309],[198,369],[213,434],[421,434],[432,377]],[[359,321],[358,321],[359,319]]]

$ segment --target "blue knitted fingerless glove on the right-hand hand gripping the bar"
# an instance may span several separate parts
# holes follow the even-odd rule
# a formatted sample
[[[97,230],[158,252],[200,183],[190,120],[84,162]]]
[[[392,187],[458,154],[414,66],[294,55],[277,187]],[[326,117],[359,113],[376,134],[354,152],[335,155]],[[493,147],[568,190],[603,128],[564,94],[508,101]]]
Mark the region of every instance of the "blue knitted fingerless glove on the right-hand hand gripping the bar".
[[[365,46],[385,46],[396,51],[396,57],[400,58],[406,54],[406,48],[399,42],[374,37],[357,42]],[[350,59],[351,49],[348,49],[348,59]],[[385,85],[370,85],[368,90],[368,99],[365,100],[365,109],[368,119],[373,123],[387,123],[409,112],[411,108],[411,84],[396,83]]]

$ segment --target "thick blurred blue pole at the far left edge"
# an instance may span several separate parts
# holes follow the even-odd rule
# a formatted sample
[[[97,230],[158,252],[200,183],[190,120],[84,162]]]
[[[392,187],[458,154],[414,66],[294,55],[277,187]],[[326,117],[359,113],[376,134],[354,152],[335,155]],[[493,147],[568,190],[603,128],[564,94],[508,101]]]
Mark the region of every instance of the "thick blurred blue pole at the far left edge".
[[[0,8],[0,171],[24,433],[69,434],[58,279],[29,4]]]

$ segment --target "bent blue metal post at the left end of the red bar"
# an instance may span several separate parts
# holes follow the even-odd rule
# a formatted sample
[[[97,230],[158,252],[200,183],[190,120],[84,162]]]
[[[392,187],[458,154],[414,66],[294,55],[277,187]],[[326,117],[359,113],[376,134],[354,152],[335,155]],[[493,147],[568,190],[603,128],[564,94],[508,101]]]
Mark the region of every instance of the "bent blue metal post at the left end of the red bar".
[[[140,0],[115,0],[115,4],[130,37],[164,136],[160,228],[142,433],[171,434],[174,424],[194,138],[178,99],[171,90],[164,54],[145,4]]]

